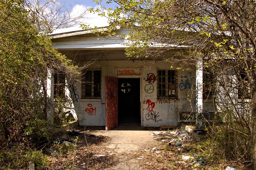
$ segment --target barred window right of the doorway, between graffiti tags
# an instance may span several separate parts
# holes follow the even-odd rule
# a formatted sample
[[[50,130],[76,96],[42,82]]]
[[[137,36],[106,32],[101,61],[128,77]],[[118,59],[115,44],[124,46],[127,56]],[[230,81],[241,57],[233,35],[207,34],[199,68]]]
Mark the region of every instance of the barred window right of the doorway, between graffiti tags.
[[[158,70],[158,99],[177,99],[178,85],[176,70]]]

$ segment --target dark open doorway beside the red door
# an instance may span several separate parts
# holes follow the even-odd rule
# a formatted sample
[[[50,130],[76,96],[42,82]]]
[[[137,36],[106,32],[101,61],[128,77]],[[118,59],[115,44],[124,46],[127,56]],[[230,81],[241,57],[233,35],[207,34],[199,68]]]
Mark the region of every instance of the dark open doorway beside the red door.
[[[140,78],[118,78],[118,124],[140,125]]]

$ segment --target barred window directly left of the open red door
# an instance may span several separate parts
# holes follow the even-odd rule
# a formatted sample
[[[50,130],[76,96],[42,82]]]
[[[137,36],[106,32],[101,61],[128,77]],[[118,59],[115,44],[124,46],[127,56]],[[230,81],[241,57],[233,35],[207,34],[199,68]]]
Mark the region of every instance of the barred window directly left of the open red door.
[[[82,81],[82,98],[101,97],[101,70],[87,70]]]

